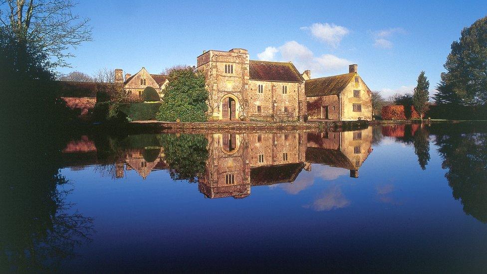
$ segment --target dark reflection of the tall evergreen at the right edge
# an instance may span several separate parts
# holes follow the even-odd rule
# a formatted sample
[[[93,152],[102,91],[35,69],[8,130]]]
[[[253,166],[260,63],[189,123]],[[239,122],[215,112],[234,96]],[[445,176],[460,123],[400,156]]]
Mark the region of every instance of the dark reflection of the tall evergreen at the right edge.
[[[449,169],[445,178],[453,197],[461,200],[466,214],[487,223],[486,127],[477,124],[474,130],[473,126],[456,126],[439,132],[436,144],[443,157],[442,167]]]

